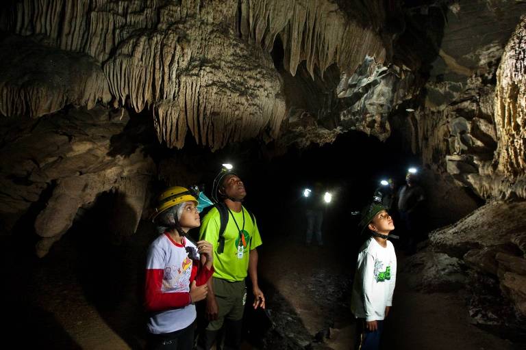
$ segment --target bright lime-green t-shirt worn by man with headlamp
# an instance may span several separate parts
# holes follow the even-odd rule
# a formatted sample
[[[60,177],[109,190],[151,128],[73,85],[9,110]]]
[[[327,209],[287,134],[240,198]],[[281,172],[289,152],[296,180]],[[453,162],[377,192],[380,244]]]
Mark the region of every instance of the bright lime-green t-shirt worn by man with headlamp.
[[[214,277],[234,282],[245,280],[249,268],[249,252],[260,246],[262,242],[258,224],[255,219],[252,221],[247,209],[239,213],[230,212],[234,215],[235,221],[229,213],[228,224],[223,234],[225,249],[222,254],[217,254],[219,228],[221,227],[217,208],[212,208],[203,218],[199,239],[204,239],[214,245]],[[244,229],[243,216],[245,216]],[[243,232],[242,237],[239,234],[240,230]]]

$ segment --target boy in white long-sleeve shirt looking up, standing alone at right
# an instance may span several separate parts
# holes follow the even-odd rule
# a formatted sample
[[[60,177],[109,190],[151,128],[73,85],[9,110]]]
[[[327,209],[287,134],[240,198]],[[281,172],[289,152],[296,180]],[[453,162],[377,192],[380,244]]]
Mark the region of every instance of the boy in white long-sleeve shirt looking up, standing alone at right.
[[[395,291],[397,256],[388,241],[395,225],[386,207],[373,202],[364,211],[360,226],[371,237],[360,248],[353,282],[351,310],[358,319],[356,349],[378,349]]]

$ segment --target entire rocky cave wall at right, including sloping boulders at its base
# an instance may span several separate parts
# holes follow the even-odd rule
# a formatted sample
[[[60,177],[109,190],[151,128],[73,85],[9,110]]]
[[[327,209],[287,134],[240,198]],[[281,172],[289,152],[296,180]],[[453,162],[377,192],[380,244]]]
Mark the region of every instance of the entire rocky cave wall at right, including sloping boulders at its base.
[[[420,280],[421,273],[442,271],[437,280],[416,281],[415,286],[428,291],[436,291],[438,284],[462,288],[468,291],[474,323],[501,334],[523,334],[526,6],[453,1],[442,10],[447,23],[440,36],[418,21],[423,8],[412,10],[414,27],[421,25],[422,32],[439,37],[431,42],[440,45],[427,64],[417,62],[429,67],[427,80],[418,98],[392,116],[392,125],[412,152],[421,155],[425,182],[435,187],[434,200],[444,203],[443,208],[449,212],[447,202],[462,198],[459,186],[486,204],[473,211],[475,202],[473,213],[431,232],[427,247],[408,260],[406,272]],[[444,183],[450,189],[455,185],[456,191],[441,195]],[[466,208],[468,201],[462,202],[460,207]],[[427,272],[419,261],[425,261]]]

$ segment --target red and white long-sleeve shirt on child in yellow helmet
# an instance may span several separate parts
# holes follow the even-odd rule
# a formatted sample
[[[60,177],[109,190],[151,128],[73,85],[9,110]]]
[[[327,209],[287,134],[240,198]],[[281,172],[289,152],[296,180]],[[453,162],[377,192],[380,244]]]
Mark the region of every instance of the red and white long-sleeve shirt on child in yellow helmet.
[[[186,247],[195,250],[197,260],[188,257]],[[205,284],[214,269],[200,267],[197,247],[188,239],[175,243],[161,234],[149,247],[146,265],[146,309],[151,312],[148,329],[153,334],[175,332],[195,320],[190,284]]]

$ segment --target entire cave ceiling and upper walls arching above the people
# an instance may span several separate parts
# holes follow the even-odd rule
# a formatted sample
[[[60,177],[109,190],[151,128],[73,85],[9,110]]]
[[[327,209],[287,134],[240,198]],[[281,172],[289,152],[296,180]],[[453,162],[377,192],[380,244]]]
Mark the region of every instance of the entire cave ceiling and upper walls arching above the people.
[[[141,181],[165,167],[137,144],[132,121],[174,149],[395,132],[450,185],[526,198],[525,10],[504,0],[8,1],[5,226],[38,202],[73,203],[36,210],[37,233],[52,243],[78,208],[115,191],[134,213],[116,231],[134,232]]]

